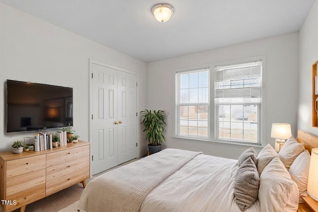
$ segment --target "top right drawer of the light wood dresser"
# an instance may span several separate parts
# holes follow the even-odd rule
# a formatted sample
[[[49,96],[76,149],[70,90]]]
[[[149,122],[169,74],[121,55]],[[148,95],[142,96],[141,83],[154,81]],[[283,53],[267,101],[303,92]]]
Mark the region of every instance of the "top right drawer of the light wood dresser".
[[[48,153],[46,155],[46,167],[73,161],[87,155],[89,155],[89,145]]]

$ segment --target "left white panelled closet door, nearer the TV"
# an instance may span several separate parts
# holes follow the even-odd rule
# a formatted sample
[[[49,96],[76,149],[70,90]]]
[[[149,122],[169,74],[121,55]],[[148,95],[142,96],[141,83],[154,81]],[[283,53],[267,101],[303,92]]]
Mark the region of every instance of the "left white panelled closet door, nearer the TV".
[[[92,64],[92,174],[118,165],[118,71]]]

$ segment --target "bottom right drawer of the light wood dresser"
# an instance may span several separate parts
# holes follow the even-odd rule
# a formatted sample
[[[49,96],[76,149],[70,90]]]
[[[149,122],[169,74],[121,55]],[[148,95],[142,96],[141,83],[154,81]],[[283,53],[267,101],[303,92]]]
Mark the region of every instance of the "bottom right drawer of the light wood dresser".
[[[76,172],[46,182],[46,196],[68,188],[87,178],[89,178],[89,164]]]

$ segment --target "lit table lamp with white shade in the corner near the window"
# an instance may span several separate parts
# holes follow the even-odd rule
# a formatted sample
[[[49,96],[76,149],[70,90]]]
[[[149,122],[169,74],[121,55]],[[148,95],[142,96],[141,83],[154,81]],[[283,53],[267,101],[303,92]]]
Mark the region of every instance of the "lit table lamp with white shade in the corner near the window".
[[[275,151],[280,151],[285,143],[285,139],[292,137],[290,124],[273,123],[271,137],[275,140]]]

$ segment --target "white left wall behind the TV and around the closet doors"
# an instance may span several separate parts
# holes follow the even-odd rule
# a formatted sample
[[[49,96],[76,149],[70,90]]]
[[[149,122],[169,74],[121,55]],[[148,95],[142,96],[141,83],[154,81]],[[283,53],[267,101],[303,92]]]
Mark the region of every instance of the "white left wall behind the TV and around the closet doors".
[[[89,141],[89,58],[137,72],[137,109],[145,108],[146,63],[0,3],[0,151],[34,136],[4,132],[6,79],[73,87],[74,130]],[[138,125],[138,156],[147,152],[142,130]]]

